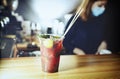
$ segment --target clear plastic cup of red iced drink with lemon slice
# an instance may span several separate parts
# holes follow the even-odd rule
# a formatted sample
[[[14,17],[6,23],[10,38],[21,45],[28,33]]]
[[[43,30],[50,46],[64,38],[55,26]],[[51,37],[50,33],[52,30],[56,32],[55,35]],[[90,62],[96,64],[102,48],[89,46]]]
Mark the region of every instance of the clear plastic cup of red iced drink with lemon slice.
[[[59,36],[39,35],[42,71],[58,72],[62,40]]]

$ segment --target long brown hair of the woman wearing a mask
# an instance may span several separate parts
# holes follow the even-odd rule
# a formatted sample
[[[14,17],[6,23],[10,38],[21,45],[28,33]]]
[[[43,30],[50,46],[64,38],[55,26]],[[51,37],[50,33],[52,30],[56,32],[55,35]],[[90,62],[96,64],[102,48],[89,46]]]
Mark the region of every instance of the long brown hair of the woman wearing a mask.
[[[83,21],[87,21],[90,14],[91,14],[91,8],[94,2],[96,1],[107,1],[107,0],[89,0],[87,6],[85,7],[84,11],[82,12],[82,15],[80,16]]]

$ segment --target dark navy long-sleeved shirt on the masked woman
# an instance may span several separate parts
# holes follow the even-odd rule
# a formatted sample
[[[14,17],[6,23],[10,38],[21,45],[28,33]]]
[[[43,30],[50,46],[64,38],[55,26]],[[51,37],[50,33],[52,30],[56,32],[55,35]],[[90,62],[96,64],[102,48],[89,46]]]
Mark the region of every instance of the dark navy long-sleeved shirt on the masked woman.
[[[66,29],[73,17],[69,20]],[[91,16],[87,21],[78,18],[63,40],[66,54],[73,54],[75,47],[82,49],[86,54],[94,54],[104,40],[104,24],[105,19],[102,15]]]

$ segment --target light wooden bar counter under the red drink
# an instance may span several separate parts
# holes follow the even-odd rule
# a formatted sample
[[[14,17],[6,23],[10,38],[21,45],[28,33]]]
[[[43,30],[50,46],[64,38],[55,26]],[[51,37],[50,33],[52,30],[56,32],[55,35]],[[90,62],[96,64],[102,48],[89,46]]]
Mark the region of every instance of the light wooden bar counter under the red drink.
[[[40,57],[0,59],[0,79],[120,79],[120,55],[61,55],[59,72],[41,70]]]

